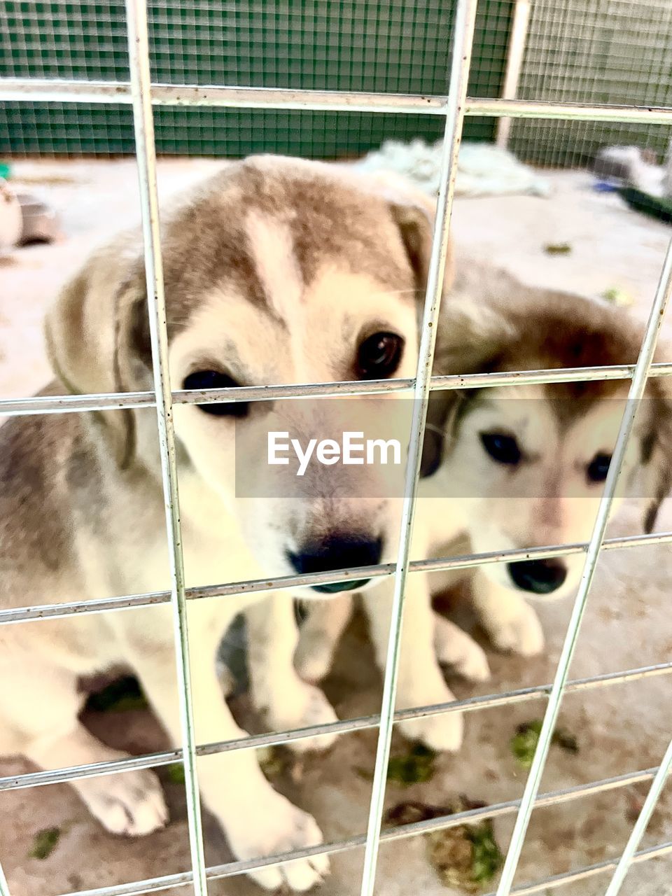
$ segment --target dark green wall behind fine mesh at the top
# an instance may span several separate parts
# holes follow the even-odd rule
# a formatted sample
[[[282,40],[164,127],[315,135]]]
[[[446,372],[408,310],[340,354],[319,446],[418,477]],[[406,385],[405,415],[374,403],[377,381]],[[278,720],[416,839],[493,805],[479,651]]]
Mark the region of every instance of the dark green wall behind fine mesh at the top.
[[[497,96],[513,3],[478,13],[470,93]],[[453,0],[165,0],[150,4],[158,82],[445,93]],[[0,75],[125,81],[124,4],[0,3]],[[241,156],[272,151],[336,158],[383,140],[435,140],[435,116],[157,108],[161,153]],[[493,119],[469,119],[468,139],[492,139]],[[133,152],[125,106],[4,103],[0,153]]]

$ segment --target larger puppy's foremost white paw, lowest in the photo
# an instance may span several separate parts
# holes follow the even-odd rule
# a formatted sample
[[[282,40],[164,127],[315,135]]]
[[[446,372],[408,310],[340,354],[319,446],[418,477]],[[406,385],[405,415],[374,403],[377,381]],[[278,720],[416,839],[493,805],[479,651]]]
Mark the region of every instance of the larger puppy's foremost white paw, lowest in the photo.
[[[231,848],[238,858],[243,860],[274,856],[295,849],[306,849],[319,846],[323,842],[322,831],[312,815],[293,806],[285,797],[273,793],[271,805],[263,806],[254,819],[248,818],[244,826],[245,833],[237,836],[228,831]],[[276,802],[277,800],[277,802]],[[250,876],[266,890],[280,890],[289,887],[297,892],[306,892],[317,883],[322,883],[329,874],[329,857],[314,856],[297,859],[286,865],[272,868],[261,868]]]

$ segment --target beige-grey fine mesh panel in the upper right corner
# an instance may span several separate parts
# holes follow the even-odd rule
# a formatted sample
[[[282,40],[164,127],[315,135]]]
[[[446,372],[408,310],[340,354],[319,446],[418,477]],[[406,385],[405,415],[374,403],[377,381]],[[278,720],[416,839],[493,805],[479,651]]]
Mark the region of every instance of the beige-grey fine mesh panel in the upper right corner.
[[[672,6],[666,0],[534,0],[517,96],[570,103],[669,106]],[[649,148],[670,132],[646,125],[519,121],[510,148],[538,165],[584,167],[603,146]]]

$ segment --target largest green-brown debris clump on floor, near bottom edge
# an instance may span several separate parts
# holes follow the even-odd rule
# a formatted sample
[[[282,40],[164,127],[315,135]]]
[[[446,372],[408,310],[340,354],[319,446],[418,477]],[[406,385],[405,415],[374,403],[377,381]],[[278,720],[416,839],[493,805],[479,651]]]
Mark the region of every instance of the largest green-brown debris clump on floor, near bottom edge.
[[[460,797],[450,806],[400,803],[386,814],[386,821],[397,827],[484,806],[484,803],[475,803],[467,797]],[[481,891],[494,879],[504,860],[490,819],[429,831],[425,839],[427,858],[442,883],[462,892]]]

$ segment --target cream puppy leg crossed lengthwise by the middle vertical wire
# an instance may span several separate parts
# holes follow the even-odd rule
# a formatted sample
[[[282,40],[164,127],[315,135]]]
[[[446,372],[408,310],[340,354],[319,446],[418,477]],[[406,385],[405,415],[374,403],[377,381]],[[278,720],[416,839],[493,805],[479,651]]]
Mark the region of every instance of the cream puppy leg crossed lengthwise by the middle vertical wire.
[[[382,670],[387,659],[393,591],[394,582],[388,579],[362,595],[375,656]],[[426,574],[411,573],[406,582],[397,706],[409,709],[449,703],[454,699],[436,660],[435,614]],[[461,746],[463,722],[460,712],[411,719],[401,722],[400,728],[407,737],[420,740],[433,750],[454,751]]]

